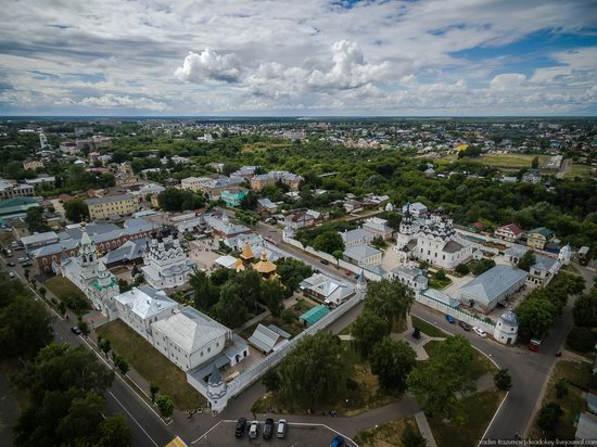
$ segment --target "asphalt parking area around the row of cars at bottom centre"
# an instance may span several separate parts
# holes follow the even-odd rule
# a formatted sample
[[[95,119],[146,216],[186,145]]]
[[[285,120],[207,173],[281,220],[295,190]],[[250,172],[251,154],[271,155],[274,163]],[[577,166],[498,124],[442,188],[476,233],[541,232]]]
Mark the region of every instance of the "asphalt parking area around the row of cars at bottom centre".
[[[338,433],[328,429],[327,426],[317,424],[297,424],[289,423],[287,436],[283,439],[272,437],[271,439],[263,438],[263,425],[264,421],[261,421],[259,436],[256,439],[249,439],[245,433],[242,438],[234,437],[236,421],[221,421],[221,423],[211,431],[204,438],[193,442],[193,446],[221,446],[221,447],[236,447],[236,446],[293,446],[293,447],[315,447],[329,446],[332,438]],[[276,425],[277,426],[277,423]],[[346,439],[346,446],[356,447],[356,444]]]

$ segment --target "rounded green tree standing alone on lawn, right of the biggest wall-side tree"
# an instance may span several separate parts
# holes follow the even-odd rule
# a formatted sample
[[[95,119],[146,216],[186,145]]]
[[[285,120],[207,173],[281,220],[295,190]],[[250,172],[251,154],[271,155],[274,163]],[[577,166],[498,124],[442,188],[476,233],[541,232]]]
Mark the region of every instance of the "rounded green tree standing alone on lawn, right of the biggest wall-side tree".
[[[417,354],[406,342],[385,336],[369,357],[371,372],[386,389],[406,389],[406,379],[417,362]]]

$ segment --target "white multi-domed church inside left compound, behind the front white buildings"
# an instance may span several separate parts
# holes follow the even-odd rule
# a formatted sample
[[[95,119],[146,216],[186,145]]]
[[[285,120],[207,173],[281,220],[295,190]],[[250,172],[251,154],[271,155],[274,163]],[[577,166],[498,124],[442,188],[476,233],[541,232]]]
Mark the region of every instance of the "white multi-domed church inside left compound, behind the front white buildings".
[[[185,284],[195,265],[187,257],[176,234],[157,239],[152,234],[141,267],[145,281],[155,289],[172,289]]]

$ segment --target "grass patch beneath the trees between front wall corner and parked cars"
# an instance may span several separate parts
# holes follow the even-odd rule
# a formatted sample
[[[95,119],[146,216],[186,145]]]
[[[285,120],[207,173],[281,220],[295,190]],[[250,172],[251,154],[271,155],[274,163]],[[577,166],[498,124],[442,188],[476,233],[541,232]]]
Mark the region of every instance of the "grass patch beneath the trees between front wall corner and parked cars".
[[[344,378],[340,380],[340,391],[335,397],[327,403],[321,404],[319,408],[310,408],[313,414],[327,414],[331,409],[334,409],[339,416],[356,416],[373,408],[383,407],[398,400],[402,397],[401,393],[393,393],[381,389],[376,375],[371,372],[369,366],[351,348],[351,343],[344,343],[346,349],[347,371],[348,376],[358,383],[358,387],[354,391],[346,388]],[[346,406],[346,399],[348,405]],[[281,401],[274,393],[267,393],[253,404],[252,411],[254,412],[276,412],[276,413],[292,413],[306,414],[306,408],[290,408],[290,406]]]

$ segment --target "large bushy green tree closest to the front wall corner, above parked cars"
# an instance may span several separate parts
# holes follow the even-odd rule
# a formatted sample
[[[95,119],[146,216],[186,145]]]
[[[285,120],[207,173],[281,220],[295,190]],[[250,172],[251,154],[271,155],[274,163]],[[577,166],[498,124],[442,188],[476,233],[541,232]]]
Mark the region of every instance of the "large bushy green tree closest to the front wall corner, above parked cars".
[[[345,368],[338,336],[323,331],[304,336],[278,367],[279,394],[291,405],[314,408],[336,396]]]

